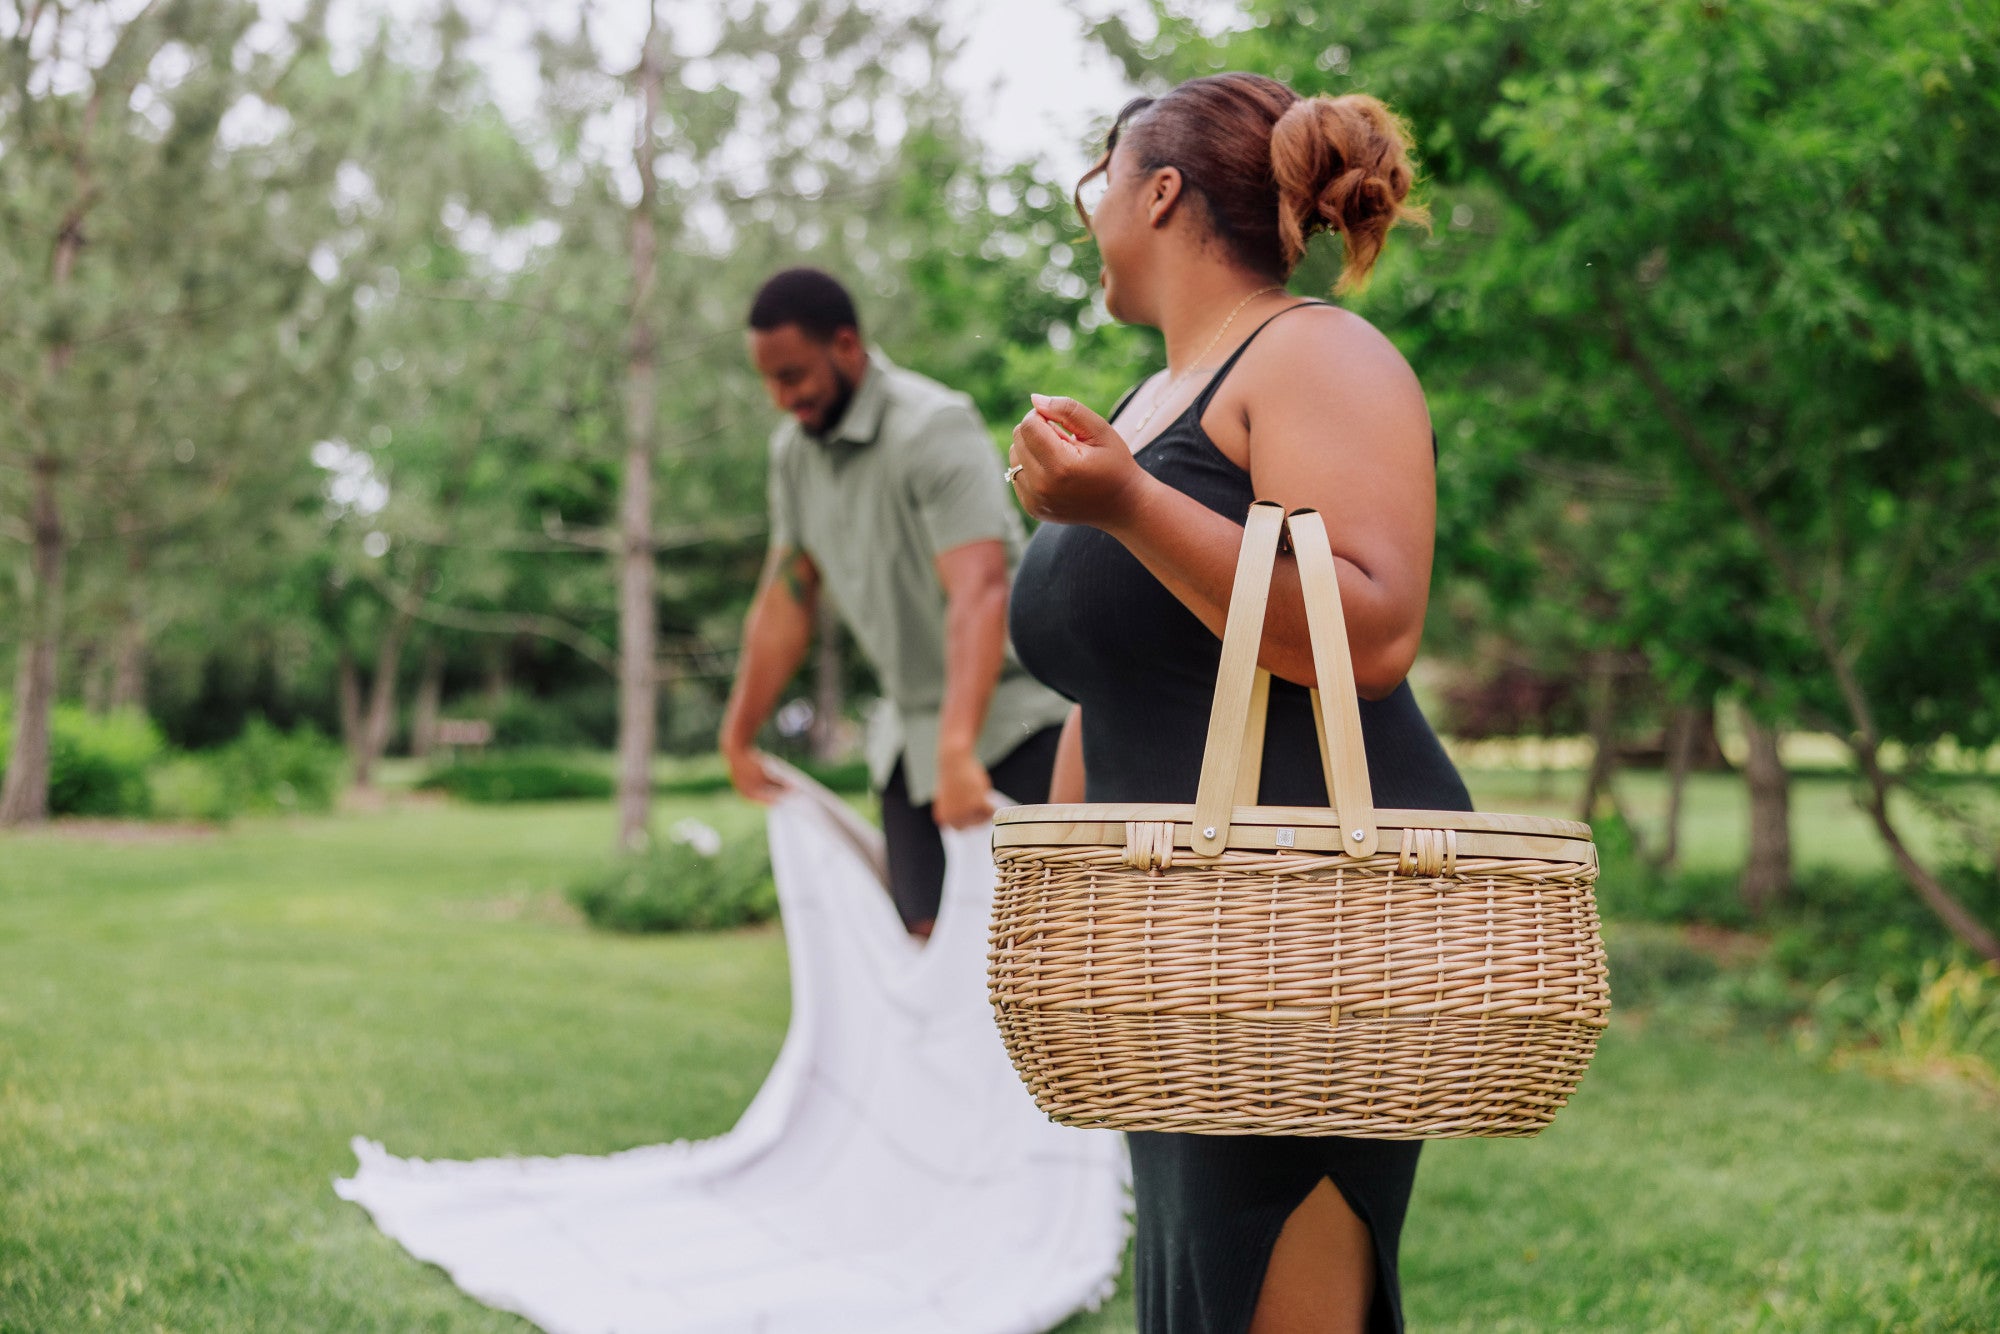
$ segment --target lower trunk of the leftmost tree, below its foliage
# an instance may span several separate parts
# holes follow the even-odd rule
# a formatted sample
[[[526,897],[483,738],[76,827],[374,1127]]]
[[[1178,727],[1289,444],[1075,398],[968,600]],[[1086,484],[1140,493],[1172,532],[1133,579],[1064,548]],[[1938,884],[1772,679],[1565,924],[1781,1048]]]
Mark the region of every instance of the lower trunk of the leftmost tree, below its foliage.
[[[34,460],[34,548],[26,564],[26,634],[14,668],[14,744],[0,782],[0,826],[48,820],[48,746],[56,710],[56,648],[62,642],[62,574],[68,534],[56,502],[58,464]]]

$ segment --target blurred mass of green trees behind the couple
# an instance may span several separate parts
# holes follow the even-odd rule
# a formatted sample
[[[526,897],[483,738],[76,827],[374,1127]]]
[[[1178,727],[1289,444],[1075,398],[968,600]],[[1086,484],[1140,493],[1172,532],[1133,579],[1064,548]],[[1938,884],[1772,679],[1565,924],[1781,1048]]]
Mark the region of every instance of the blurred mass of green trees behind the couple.
[[[636,848],[756,576],[762,276],[842,274],[996,440],[1032,388],[1108,406],[1156,364],[1092,300],[1070,182],[966,124],[930,6],[550,14],[526,88],[450,4],[360,40],[274,14],[0,4],[0,822],[50,810],[94,716],[158,756],[312,728],[362,790],[476,722],[616,746]],[[1358,306],[1442,442],[1442,728],[1580,738],[1576,808],[1650,884],[1728,752],[1750,914],[1800,880],[1780,742],[1832,738],[1918,900],[2000,956],[1962,780],[2000,740],[1996,6],[1086,20],[1142,90],[1252,68],[1412,120],[1438,224]],[[870,682],[824,640],[780,744],[838,760]]]

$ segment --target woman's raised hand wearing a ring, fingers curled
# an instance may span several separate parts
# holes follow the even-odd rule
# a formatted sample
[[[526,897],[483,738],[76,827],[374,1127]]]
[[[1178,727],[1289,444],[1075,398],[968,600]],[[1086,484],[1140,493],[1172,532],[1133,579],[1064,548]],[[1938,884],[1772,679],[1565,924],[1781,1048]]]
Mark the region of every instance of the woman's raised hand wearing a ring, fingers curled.
[[[1022,506],[1038,520],[1116,528],[1138,508],[1152,476],[1124,438],[1074,398],[1034,394],[1014,428],[1008,462]]]

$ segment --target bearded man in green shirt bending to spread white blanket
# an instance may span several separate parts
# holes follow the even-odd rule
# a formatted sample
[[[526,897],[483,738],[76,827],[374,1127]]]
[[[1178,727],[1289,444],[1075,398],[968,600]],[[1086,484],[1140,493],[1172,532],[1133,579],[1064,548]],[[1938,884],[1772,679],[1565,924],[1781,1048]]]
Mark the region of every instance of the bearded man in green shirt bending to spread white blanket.
[[[938,826],[992,814],[994,790],[1048,798],[1068,704],[1006,642],[1022,524],[972,402],[862,342],[832,276],[788,268],[750,306],[750,360],[790,420],[770,442],[770,556],[720,746],[744,796],[780,794],[756,734],[830,594],[888,696],[868,738],[890,896],[928,936],[944,888]]]

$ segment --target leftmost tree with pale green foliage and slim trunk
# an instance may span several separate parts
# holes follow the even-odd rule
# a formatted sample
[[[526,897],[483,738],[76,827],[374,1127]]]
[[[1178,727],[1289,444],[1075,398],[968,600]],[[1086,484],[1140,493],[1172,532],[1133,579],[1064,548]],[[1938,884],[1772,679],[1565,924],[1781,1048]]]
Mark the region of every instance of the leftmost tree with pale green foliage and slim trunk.
[[[324,14],[270,42],[248,2],[118,8],[16,8],[0,38],[0,210],[30,240],[0,256],[0,486],[30,516],[4,532],[26,558],[0,824],[48,812],[80,546],[144,574],[166,534],[296,478],[302,456],[272,464],[270,432],[318,398],[344,336],[310,270],[338,226],[340,148],[288,134],[288,104],[328,84]]]

